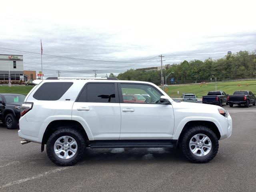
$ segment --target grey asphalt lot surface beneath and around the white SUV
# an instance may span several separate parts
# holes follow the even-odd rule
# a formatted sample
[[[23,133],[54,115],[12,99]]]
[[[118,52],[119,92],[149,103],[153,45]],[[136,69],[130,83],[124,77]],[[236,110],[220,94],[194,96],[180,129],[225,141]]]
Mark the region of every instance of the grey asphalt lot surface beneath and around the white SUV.
[[[207,164],[166,148],[87,149],[72,167],[53,164],[40,144],[20,144],[0,126],[0,191],[256,191],[256,106],[228,109],[232,136]]]

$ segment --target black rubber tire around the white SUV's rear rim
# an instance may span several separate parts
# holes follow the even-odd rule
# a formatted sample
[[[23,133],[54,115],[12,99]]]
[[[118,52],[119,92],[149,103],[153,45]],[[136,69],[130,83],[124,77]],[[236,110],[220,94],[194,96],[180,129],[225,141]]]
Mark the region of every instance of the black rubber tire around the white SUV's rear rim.
[[[77,142],[76,154],[69,159],[59,158],[54,152],[54,143],[61,136],[70,136]],[[46,152],[52,162],[59,166],[72,166],[76,164],[84,156],[86,149],[86,138],[79,131],[70,127],[60,127],[58,130],[52,133],[46,144]]]

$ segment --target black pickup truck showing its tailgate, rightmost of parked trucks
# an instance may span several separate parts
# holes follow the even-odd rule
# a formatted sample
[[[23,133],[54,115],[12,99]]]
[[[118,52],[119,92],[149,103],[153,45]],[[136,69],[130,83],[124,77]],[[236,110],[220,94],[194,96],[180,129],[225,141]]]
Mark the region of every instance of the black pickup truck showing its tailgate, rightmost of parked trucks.
[[[233,95],[228,96],[228,104],[230,107],[236,105],[244,105],[249,107],[250,104],[255,106],[255,94],[251,91],[235,91]]]

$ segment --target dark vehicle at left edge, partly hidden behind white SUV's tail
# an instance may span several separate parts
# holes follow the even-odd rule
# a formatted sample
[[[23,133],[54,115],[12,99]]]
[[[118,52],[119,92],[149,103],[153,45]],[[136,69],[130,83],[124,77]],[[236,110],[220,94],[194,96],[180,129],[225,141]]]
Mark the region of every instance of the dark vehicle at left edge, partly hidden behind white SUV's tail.
[[[0,93],[0,120],[8,129],[18,128],[20,119],[20,104],[25,96],[21,94]]]

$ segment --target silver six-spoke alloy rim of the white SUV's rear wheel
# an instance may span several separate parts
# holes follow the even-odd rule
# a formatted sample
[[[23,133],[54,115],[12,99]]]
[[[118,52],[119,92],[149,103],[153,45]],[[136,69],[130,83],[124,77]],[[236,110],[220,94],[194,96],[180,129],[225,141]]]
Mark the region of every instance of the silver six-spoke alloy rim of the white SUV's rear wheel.
[[[77,142],[70,136],[61,136],[54,143],[54,152],[61,159],[70,159],[77,152]]]

